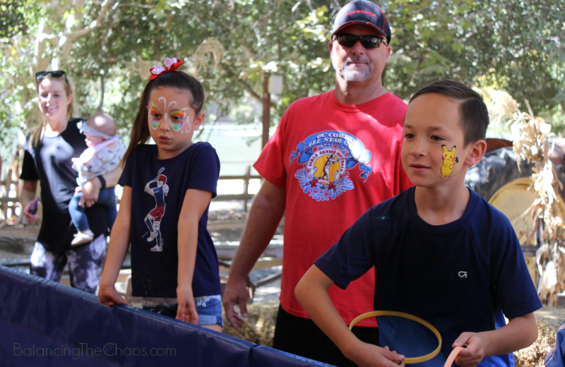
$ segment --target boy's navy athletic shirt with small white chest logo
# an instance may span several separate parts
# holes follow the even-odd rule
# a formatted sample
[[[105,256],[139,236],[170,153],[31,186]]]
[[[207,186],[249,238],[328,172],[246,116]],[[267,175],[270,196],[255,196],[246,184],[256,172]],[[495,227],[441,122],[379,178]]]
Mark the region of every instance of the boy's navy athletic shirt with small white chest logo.
[[[494,330],[505,325],[504,315],[516,318],[542,304],[506,216],[470,190],[463,215],[434,226],[417,214],[414,193],[408,188],[371,207],[315,264],[342,289],[374,266],[374,309],[434,325],[443,338],[440,354],[414,366],[444,366],[462,332]],[[401,320],[377,320],[381,347],[398,351]],[[480,366],[513,366],[513,355]]]

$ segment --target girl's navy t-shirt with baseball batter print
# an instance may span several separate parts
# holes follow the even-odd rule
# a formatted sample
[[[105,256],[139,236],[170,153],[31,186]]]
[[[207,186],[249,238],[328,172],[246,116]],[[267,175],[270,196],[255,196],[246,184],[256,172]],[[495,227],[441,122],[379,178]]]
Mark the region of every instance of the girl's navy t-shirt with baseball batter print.
[[[119,184],[131,187],[131,280],[133,296],[177,297],[177,223],[189,188],[216,196],[220,160],[208,143],[177,157],[157,160],[157,145],[138,145]],[[198,222],[192,281],[195,297],[221,294],[218,255],[206,229],[208,207]]]

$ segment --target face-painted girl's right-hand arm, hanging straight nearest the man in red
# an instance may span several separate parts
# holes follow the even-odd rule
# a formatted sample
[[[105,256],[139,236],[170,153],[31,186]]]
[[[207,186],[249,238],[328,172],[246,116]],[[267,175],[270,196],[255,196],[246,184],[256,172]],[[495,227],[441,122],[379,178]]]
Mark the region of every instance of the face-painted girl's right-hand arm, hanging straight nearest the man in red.
[[[198,222],[204,210],[210,204],[211,198],[212,193],[210,191],[194,188],[186,190],[178,223],[177,301],[179,308],[177,319],[193,324],[198,324],[198,313],[196,313],[192,294],[192,277],[194,275],[194,263],[196,263],[196,248],[198,247]]]

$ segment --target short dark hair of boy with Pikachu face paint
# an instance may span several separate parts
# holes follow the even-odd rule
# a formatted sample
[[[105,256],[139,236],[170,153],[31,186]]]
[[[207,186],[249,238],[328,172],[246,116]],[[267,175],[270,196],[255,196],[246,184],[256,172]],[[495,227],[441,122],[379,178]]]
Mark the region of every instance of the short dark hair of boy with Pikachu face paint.
[[[489,126],[489,112],[487,105],[484,104],[479,93],[472,90],[467,85],[458,83],[453,80],[439,80],[429,83],[424,88],[418,90],[415,95],[410,98],[410,103],[420,95],[429,93],[437,93],[444,95],[453,100],[461,101],[461,127],[463,128],[463,136],[465,138],[465,146],[477,140],[484,140],[487,136],[487,127]]]

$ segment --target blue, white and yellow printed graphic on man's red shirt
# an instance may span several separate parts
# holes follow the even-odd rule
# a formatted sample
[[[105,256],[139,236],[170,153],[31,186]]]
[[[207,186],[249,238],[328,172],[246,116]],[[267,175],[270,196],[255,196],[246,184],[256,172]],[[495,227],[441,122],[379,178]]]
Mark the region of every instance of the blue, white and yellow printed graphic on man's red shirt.
[[[302,169],[295,172],[300,187],[316,201],[335,199],[355,188],[350,170],[358,166],[359,176],[367,181],[372,172],[371,152],[350,133],[321,131],[297,145],[290,164],[297,159]]]

